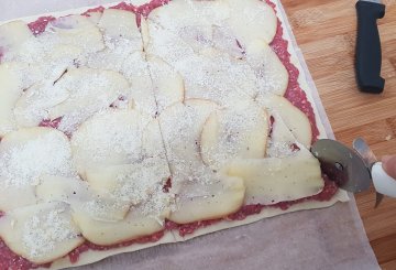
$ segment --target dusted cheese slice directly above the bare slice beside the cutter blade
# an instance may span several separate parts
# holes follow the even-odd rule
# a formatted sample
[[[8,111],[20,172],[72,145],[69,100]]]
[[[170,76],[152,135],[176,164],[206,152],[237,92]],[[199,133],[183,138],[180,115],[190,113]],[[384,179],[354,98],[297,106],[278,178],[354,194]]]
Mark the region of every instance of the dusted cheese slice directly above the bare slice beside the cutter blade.
[[[268,116],[254,102],[213,111],[200,137],[201,156],[212,170],[233,159],[265,156]]]

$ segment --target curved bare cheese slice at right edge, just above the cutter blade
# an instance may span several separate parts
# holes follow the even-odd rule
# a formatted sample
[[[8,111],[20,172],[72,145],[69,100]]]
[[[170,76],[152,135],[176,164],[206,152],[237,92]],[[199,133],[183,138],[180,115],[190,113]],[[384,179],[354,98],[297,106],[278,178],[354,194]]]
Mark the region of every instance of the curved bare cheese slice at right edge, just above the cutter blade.
[[[312,141],[312,131],[308,117],[284,97],[276,95],[257,96],[257,102],[270,111],[279,114],[298,142],[307,149]]]

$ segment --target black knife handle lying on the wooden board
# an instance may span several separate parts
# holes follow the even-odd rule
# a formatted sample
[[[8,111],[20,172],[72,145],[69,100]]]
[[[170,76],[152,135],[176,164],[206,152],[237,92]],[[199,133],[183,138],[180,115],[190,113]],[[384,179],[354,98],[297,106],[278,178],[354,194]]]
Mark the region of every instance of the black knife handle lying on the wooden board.
[[[381,41],[377,19],[385,15],[385,6],[358,1],[356,79],[365,93],[381,94],[385,79],[381,77]]]

